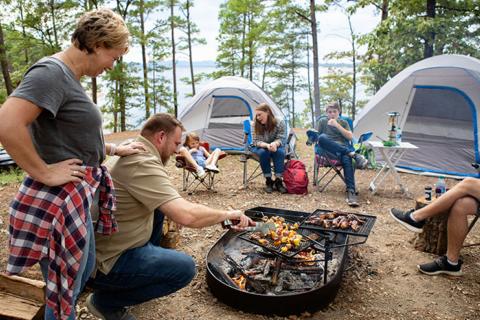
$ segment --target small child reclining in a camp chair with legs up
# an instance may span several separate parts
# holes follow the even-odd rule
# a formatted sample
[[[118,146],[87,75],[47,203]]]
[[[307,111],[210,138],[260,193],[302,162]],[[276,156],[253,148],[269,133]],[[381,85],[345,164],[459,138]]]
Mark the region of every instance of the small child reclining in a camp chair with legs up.
[[[188,165],[197,168],[197,174],[200,178],[206,175],[205,169],[215,173],[220,172],[217,161],[223,151],[216,148],[212,153],[209,153],[200,145],[200,137],[195,132],[187,134],[179,153],[185,158]]]

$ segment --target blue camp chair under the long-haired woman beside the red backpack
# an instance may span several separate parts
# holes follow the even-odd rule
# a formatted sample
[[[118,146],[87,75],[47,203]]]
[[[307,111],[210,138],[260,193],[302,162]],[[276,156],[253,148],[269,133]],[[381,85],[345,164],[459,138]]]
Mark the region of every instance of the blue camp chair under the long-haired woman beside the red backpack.
[[[262,174],[262,170],[260,168],[260,159],[258,158],[257,154],[251,151],[251,146],[253,142],[252,138],[252,126],[250,120],[243,121],[243,152],[240,156],[240,162],[243,162],[243,187],[246,188],[248,183],[258,176]],[[295,144],[297,141],[297,136],[295,133],[290,130],[288,134],[286,143],[285,143],[285,160],[290,159],[297,159],[298,156],[295,152]],[[255,169],[249,174],[248,173],[248,160],[253,159],[255,160],[256,166]]]

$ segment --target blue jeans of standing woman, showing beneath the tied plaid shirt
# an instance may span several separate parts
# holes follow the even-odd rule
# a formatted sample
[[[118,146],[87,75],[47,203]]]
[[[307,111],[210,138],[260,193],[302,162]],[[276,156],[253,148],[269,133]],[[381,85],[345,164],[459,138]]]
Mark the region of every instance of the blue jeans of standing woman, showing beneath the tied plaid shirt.
[[[77,278],[73,283],[73,307],[72,313],[68,317],[68,320],[75,320],[75,305],[77,304],[77,299],[80,293],[83,291],[85,284],[87,283],[90,275],[95,268],[95,236],[92,224],[92,218],[90,213],[87,212],[87,237],[85,238],[85,249],[83,250],[82,259],[80,260],[80,267],[78,269]],[[42,270],[43,279],[47,282],[48,275],[48,258],[40,260],[40,269]],[[55,320],[55,315],[53,310],[45,306],[45,320]]]

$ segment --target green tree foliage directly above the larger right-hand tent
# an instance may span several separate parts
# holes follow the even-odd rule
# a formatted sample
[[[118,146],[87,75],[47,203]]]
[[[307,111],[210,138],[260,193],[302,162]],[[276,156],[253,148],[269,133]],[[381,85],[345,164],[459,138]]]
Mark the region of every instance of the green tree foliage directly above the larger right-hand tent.
[[[427,58],[428,45],[433,47],[433,55],[480,57],[480,3],[437,0],[435,17],[427,16],[426,3],[390,0],[388,18],[360,39],[368,46],[362,70],[372,93],[407,66]]]

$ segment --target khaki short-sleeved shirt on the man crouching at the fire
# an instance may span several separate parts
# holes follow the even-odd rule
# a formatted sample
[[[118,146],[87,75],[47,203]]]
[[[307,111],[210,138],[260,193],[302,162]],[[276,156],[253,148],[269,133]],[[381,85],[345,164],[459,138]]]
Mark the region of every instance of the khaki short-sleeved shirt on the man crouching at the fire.
[[[120,255],[145,245],[152,235],[153,211],[180,198],[155,146],[140,136],[147,152],[107,161],[115,186],[118,232],[96,234],[97,269],[108,274]],[[133,262],[134,263],[134,262]]]

